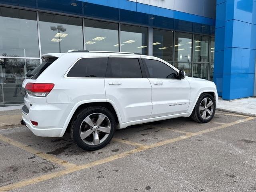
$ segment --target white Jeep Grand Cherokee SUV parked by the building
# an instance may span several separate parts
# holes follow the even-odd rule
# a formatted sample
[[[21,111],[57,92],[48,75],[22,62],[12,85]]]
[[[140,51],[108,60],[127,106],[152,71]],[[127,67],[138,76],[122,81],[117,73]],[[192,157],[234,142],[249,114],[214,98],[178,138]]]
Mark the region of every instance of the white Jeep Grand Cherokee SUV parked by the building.
[[[67,129],[84,150],[104,147],[115,129],[191,117],[206,123],[218,102],[213,82],[190,78],[152,56],[73,51],[44,54],[26,74],[22,124],[37,136]]]

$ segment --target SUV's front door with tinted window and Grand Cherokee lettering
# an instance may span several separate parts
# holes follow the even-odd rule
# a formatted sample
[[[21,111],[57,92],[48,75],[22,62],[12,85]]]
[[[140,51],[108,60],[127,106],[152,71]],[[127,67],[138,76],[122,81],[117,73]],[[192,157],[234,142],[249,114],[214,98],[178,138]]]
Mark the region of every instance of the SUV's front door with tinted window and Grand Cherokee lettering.
[[[152,86],[153,110],[150,117],[186,113],[190,104],[190,84],[177,79],[178,72],[158,60],[144,59]]]

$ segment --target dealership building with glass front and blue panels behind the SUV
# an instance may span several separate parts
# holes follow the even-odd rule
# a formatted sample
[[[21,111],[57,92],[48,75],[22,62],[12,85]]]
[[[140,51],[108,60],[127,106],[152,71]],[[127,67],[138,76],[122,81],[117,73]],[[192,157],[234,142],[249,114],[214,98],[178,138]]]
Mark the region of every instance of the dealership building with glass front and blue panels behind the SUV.
[[[256,96],[256,0],[0,0],[0,107],[23,104],[42,54],[68,50],[156,56],[223,99]]]

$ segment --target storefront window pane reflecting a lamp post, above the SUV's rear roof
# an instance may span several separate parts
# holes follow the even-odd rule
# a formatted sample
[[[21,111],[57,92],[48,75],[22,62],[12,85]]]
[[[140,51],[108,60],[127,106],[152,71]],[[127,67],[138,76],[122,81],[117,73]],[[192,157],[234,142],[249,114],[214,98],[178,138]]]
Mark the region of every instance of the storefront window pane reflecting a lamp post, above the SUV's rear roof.
[[[42,54],[84,50],[82,18],[39,13]]]

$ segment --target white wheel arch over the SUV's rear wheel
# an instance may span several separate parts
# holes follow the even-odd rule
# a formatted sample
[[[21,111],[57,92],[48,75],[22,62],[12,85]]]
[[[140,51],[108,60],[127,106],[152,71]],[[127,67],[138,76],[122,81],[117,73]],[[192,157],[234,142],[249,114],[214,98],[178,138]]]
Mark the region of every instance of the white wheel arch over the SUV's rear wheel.
[[[63,126],[63,134],[66,132],[66,130],[68,130],[70,128],[70,124],[72,122],[72,120],[74,119],[74,117],[76,116],[76,114],[82,110],[83,108],[89,107],[89,106],[102,106],[105,107],[107,109],[109,109],[115,116],[116,119],[116,123],[120,124],[121,121],[121,117],[120,114],[118,112],[118,109],[116,108],[116,106],[113,106],[113,104],[111,104],[110,102],[107,102],[106,100],[103,101],[84,101],[84,102],[78,102],[70,111],[70,114],[68,115],[64,126]],[[62,135],[63,135],[62,134]]]

